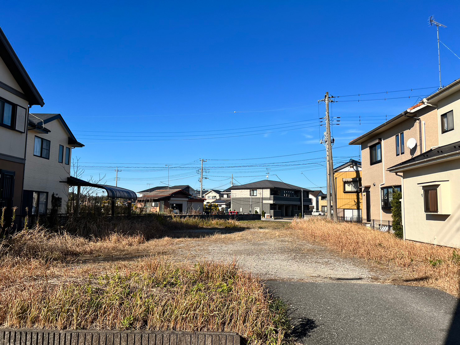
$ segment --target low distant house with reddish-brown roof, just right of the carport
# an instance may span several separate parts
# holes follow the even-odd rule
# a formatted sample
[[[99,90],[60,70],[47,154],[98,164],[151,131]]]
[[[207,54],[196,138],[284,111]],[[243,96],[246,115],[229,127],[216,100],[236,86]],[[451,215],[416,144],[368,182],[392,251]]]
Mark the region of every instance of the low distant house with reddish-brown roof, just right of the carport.
[[[179,214],[201,214],[204,199],[193,196],[183,189],[154,190],[139,196],[137,207],[144,208],[145,212],[167,212]]]

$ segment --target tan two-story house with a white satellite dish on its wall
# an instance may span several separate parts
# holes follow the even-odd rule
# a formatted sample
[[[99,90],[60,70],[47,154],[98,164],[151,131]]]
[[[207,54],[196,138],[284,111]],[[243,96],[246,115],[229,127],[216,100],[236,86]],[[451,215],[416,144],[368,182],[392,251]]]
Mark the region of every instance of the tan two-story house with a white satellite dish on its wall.
[[[401,190],[403,177],[387,169],[438,145],[437,117],[435,105],[417,104],[350,142],[361,145],[363,222],[391,221],[393,191]]]

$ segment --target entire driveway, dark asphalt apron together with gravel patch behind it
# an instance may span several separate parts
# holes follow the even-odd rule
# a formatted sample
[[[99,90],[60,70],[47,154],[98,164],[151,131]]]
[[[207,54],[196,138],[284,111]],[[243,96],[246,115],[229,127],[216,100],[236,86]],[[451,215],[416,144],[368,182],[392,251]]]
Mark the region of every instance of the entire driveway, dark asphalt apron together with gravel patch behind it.
[[[170,254],[192,261],[236,260],[264,279],[290,305],[301,344],[460,344],[460,306],[453,296],[381,284],[401,272],[343,258],[282,229],[178,239]]]

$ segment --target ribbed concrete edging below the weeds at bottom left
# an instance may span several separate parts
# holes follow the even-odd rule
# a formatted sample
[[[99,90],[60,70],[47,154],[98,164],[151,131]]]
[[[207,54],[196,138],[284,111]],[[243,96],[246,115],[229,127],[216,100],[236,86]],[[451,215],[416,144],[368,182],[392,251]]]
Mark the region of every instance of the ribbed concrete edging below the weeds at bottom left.
[[[241,345],[227,332],[0,329],[0,345]]]

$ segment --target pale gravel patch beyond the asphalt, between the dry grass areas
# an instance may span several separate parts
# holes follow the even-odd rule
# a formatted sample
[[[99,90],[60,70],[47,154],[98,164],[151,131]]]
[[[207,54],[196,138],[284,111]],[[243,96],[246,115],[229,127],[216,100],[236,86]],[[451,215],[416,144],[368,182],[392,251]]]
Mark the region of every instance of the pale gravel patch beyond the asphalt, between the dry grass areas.
[[[188,239],[174,246],[173,255],[221,262],[235,259],[242,269],[262,279],[365,283],[386,281],[392,275],[377,265],[342,258],[324,247],[282,235],[272,237],[271,231],[246,230],[244,234],[223,235],[224,243],[207,237]]]

